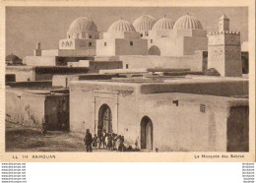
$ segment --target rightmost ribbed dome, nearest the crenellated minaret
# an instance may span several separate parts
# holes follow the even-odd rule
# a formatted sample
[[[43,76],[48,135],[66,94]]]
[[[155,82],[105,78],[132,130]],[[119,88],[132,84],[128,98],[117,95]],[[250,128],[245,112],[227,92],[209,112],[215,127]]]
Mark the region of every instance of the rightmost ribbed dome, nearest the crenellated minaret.
[[[203,30],[203,27],[197,18],[190,15],[185,15],[179,18],[174,24],[175,30]]]

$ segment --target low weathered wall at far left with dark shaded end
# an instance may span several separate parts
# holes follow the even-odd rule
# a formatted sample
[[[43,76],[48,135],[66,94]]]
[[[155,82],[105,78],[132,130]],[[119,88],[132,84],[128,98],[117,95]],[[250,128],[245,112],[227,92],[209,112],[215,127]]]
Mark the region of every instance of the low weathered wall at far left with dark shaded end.
[[[48,130],[62,130],[62,123],[69,124],[68,94],[7,89],[6,120],[37,128],[45,121]]]

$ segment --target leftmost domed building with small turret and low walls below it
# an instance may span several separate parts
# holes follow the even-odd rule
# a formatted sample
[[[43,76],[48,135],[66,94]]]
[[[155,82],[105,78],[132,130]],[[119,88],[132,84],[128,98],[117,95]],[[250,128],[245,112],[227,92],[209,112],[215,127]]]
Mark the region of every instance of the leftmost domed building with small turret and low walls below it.
[[[73,21],[66,39],[59,40],[58,49],[42,49],[36,43],[33,56],[26,56],[23,66],[7,66],[6,74],[17,82],[51,80],[55,74],[85,74],[99,69],[121,69],[121,62],[94,62],[96,39],[93,20],[81,17]],[[146,50],[147,51],[147,50]],[[79,66],[79,67],[78,67]]]

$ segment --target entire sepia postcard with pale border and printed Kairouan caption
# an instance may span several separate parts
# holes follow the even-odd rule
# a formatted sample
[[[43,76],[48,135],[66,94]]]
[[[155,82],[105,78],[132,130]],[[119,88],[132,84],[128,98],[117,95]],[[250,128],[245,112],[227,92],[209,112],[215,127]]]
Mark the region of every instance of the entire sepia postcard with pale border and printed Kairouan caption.
[[[255,2],[2,1],[2,161],[255,161]]]

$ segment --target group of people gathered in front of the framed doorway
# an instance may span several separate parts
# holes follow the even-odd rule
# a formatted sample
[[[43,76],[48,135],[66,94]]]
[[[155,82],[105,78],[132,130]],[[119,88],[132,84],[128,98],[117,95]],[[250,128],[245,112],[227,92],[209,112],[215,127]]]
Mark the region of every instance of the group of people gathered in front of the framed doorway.
[[[95,150],[125,151],[124,136],[106,133],[105,130],[103,130],[102,133],[98,133],[98,135],[95,134],[93,138],[90,130],[87,129],[84,142],[87,147],[87,152],[93,152],[93,148]]]

